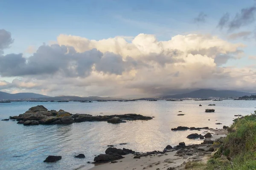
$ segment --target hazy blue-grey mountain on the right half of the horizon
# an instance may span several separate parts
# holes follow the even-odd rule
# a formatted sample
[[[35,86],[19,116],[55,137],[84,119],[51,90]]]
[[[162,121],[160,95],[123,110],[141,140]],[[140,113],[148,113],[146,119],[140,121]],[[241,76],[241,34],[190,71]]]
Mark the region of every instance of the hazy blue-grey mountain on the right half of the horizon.
[[[241,91],[229,91],[229,90],[211,90],[211,89],[200,89],[197,91],[192,91],[190,93],[185,94],[175,94],[175,95],[168,95],[162,96],[160,99],[184,99],[184,98],[227,98],[227,97],[240,97],[240,96],[250,96],[250,93],[241,92]]]

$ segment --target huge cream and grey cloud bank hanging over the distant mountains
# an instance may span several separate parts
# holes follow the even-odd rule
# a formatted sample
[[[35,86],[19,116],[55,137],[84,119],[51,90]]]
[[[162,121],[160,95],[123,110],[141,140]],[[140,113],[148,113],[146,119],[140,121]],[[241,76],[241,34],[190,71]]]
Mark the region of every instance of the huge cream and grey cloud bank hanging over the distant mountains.
[[[0,49],[13,42],[0,34]],[[64,35],[42,45],[30,57],[0,55],[0,90],[33,91],[50,96],[154,96],[198,88],[254,89],[255,70],[223,65],[243,56],[241,43],[210,34],[176,35],[158,41],[154,35],[131,39],[89,40]]]

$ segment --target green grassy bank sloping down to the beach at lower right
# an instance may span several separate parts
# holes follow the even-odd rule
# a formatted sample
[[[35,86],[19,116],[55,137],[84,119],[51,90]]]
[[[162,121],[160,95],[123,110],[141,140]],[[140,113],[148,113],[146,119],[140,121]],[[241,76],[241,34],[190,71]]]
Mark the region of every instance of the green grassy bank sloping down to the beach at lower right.
[[[256,111],[236,119],[205,170],[256,170]]]

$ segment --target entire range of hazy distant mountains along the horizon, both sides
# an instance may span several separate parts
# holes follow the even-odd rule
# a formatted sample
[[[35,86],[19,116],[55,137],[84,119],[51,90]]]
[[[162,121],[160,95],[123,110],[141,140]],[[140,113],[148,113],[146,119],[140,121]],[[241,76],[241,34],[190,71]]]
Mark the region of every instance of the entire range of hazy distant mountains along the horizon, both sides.
[[[241,91],[229,91],[229,90],[210,90],[210,89],[201,89],[197,91],[192,91],[190,93],[184,94],[175,94],[175,95],[166,95],[161,97],[153,98],[142,98],[140,100],[147,99],[184,99],[184,98],[227,98],[227,97],[241,97],[241,96],[250,96],[251,93],[241,92]],[[79,96],[45,96],[35,93],[17,93],[9,94],[0,91],[0,99],[2,100],[15,100],[15,99],[38,99],[38,100],[123,100],[122,98],[113,98],[113,97],[98,97],[98,96],[89,96],[89,97],[79,97]]]

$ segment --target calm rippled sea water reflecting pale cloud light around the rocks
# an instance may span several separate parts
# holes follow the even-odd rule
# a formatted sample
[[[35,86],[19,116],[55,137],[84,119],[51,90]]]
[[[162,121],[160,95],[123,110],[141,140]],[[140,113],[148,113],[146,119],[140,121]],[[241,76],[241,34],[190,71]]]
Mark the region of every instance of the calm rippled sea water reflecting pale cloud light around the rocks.
[[[201,103],[202,107],[198,105]],[[215,103],[216,106],[207,106]],[[0,103],[0,119],[16,116],[35,105],[44,105],[48,110],[63,109],[70,113],[111,115],[139,113],[155,116],[149,121],[132,121],[118,125],[107,122],[81,122],[72,125],[23,126],[12,121],[0,121],[0,169],[1,170],[72,170],[79,167],[90,168],[93,158],[104,153],[107,145],[128,148],[138,152],[163,150],[167,144],[179,142],[201,143],[189,140],[190,133],[203,131],[171,130],[177,126],[222,128],[230,125],[235,114],[253,113],[256,101],[137,101],[137,102],[11,102]],[[204,113],[214,108],[215,113]],[[178,111],[186,114],[177,116]],[[210,121],[208,120],[210,119]],[[217,121],[216,121],[217,120]],[[223,125],[215,125],[222,123]],[[126,145],[119,145],[127,143]],[[85,159],[73,156],[83,153]],[[44,163],[49,155],[62,156],[60,161]]]

